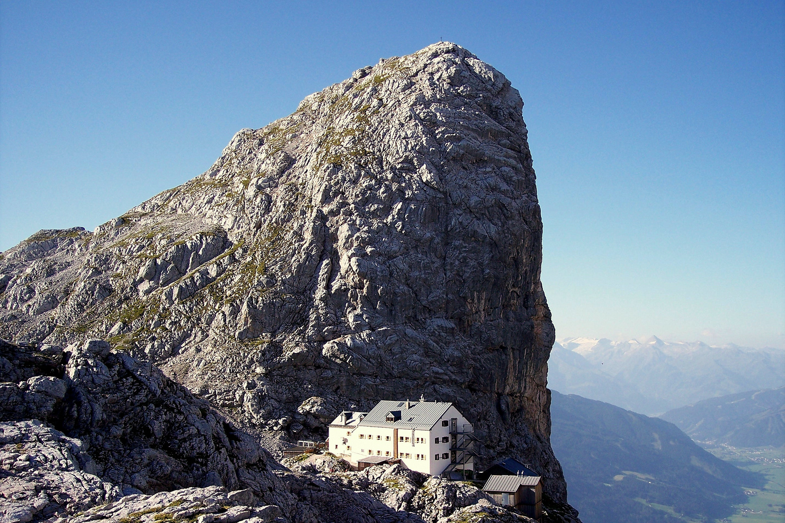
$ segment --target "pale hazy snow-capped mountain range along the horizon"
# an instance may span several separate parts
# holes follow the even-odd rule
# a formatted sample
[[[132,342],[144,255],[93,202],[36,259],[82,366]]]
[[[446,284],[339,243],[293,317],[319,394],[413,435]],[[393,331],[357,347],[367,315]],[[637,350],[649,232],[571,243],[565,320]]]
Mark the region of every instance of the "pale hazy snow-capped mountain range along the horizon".
[[[785,350],[702,342],[566,338],[553,345],[548,386],[659,415],[707,398],[785,383]]]

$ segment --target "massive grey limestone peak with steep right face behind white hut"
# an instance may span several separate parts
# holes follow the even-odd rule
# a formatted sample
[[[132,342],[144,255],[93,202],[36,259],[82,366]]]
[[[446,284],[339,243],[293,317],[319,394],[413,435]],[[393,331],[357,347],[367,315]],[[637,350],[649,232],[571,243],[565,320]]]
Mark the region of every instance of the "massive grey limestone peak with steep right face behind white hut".
[[[352,403],[454,401],[485,460],[563,501],[522,106],[447,42],[360,69],[92,233],[4,252],[0,336],[103,337],[287,437]]]

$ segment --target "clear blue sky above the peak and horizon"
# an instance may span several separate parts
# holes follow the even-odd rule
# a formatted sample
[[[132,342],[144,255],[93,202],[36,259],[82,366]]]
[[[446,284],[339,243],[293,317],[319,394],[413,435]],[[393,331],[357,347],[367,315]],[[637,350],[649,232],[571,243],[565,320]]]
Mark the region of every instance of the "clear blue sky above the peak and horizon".
[[[785,346],[785,2],[2,2],[0,249],[457,42],[520,90],[557,336]]]

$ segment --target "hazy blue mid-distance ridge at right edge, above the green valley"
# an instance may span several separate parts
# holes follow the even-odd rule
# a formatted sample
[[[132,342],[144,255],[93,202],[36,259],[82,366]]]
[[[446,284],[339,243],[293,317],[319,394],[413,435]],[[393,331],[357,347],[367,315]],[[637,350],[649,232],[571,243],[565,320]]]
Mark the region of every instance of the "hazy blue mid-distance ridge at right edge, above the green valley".
[[[696,441],[780,447],[785,445],[785,387],[710,398],[661,417]]]

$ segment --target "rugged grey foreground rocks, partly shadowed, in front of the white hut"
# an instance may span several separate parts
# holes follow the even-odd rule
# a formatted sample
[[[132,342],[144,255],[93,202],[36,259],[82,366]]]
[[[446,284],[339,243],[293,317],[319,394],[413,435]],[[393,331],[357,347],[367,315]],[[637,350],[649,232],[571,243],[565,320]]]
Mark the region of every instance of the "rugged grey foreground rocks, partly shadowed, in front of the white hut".
[[[476,486],[400,465],[351,472],[328,453],[286,467],[207,401],[101,340],[0,342],[0,394],[0,523],[533,521]],[[549,500],[546,512],[577,521],[564,504]]]

